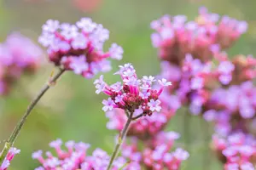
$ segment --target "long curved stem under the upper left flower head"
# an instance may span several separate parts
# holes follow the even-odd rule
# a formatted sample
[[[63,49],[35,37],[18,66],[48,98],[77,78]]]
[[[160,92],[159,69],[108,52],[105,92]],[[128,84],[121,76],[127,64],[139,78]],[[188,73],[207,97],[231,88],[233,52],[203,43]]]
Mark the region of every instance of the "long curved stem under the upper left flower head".
[[[0,165],[2,165],[3,160],[7,156],[10,147],[12,147],[13,144],[15,143],[15,139],[17,139],[21,128],[23,127],[24,123],[26,122],[27,116],[30,115],[33,108],[38,104],[38,101],[49,90],[50,86],[52,86],[56,82],[56,80],[61,77],[61,75],[63,74],[64,71],[65,70],[60,69],[60,71],[54,77],[50,77],[49,82],[45,83],[44,87],[40,90],[38,95],[34,99],[32,99],[32,102],[30,103],[30,105],[28,105],[26,112],[21,117],[20,122],[17,123],[13,133],[11,133],[8,141],[4,145],[3,151],[0,156]]]

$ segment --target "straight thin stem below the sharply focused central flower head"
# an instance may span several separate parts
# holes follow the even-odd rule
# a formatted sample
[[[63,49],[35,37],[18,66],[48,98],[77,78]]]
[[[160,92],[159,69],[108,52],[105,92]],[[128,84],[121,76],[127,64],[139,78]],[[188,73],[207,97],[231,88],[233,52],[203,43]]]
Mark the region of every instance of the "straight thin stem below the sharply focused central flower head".
[[[129,127],[130,127],[130,125],[131,125],[132,115],[133,115],[133,113],[130,113],[130,115],[129,115],[129,117],[128,117],[128,120],[127,120],[127,122],[125,123],[125,127],[124,127],[122,133],[121,133],[120,136],[119,136],[118,144],[115,145],[115,148],[114,148],[114,150],[113,150],[113,154],[112,154],[111,159],[110,159],[110,161],[109,161],[109,163],[108,163],[108,168],[107,168],[107,170],[110,170],[110,168],[112,167],[112,164],[113,164],[114,159],[115,159],[116,156],[119,154],[120,146],[121,146],[121,144],[123,144],[123,141],[124,141],[124,139],[125,139],[125,136],[126,136],[128,130],[129,130]]]

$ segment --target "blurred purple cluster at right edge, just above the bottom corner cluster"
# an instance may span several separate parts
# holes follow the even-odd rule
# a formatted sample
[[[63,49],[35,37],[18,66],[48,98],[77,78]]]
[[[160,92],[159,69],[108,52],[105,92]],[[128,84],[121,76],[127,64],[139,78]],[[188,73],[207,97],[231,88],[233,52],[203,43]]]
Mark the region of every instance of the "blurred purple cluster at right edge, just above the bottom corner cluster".
[[[215,122],[215,130],[220,134],[227,135],[237,129],[248,132],[247,125],[256,118],[255,97],[253,82],[217,88],[212,92],[207,104],[209,110],[203,116],[208,122]]]

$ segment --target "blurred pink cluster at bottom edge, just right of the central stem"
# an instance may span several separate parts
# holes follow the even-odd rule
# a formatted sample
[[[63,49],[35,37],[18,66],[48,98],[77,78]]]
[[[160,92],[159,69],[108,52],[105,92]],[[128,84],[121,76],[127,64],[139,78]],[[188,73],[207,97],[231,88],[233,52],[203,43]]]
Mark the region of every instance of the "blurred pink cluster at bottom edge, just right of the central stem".
[[[179,134],[160,132],[152,139],[143,140],[143,148],[139,148],[140,139],[132,138],[131,144],[124,144],[122,156],[137,161],[145,169],[180,169],[181,163],[189,158],[189,153],[181,148],[173,150],[173,144]]]

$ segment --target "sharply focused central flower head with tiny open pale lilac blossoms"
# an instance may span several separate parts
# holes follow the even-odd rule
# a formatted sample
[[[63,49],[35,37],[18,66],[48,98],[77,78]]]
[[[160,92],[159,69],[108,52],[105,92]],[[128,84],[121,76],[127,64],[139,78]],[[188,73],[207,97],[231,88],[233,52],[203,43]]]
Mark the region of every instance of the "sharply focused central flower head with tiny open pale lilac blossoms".
[[[152,83],[156,81],[154,77],[145,76],[138,79],[131,64],[120,65],[119,68],[119,71],[115,74],[120,75],[123,84],[116,82],[108,86],[104,82],[103,76],[94,82],[96,84],[96,94],[102,92],[110,96],[102,101],[104,105],[102,110],[112,111],[113,108],[119,108],[133,114],[133,116],[151,116],[154,112],[159,112],[161,106],[158,98],[164,88],[172,85],[172,82],[167,82],[166,79],[158,80],[160,89],[156,90],[152,88]]]

